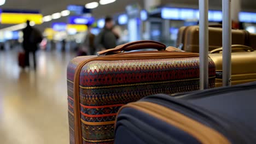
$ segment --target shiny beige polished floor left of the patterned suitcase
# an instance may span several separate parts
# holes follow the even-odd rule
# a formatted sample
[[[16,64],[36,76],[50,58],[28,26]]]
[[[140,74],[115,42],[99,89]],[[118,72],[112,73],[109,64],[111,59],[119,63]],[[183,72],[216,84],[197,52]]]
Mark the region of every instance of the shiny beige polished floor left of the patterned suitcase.
[[[69,143],[66,67],[71,53],[37,53],[21,70],[15,50],[0,51],[0,143]]]

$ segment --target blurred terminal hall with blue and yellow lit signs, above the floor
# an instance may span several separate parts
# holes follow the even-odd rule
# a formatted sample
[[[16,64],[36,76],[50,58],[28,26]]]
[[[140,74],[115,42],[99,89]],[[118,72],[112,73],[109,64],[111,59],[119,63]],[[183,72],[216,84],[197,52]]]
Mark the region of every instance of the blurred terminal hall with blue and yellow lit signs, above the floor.
[[[5,2],[5,3],[4,3]],[[1,49],[22,42],[26,20],[43,33],[42,50],[75,51],[83,43],[90,25],[97,35],[104,17],[112,16],[120,33],[118,44],[150,39],[175,46],[179,27],[197,25],[198,1],[14,1],[1,0]],[[255,1],[232,2],[232,20],[251,33],[256,32]],[[222,21],[221,1],[210,1],[210,24]]]

